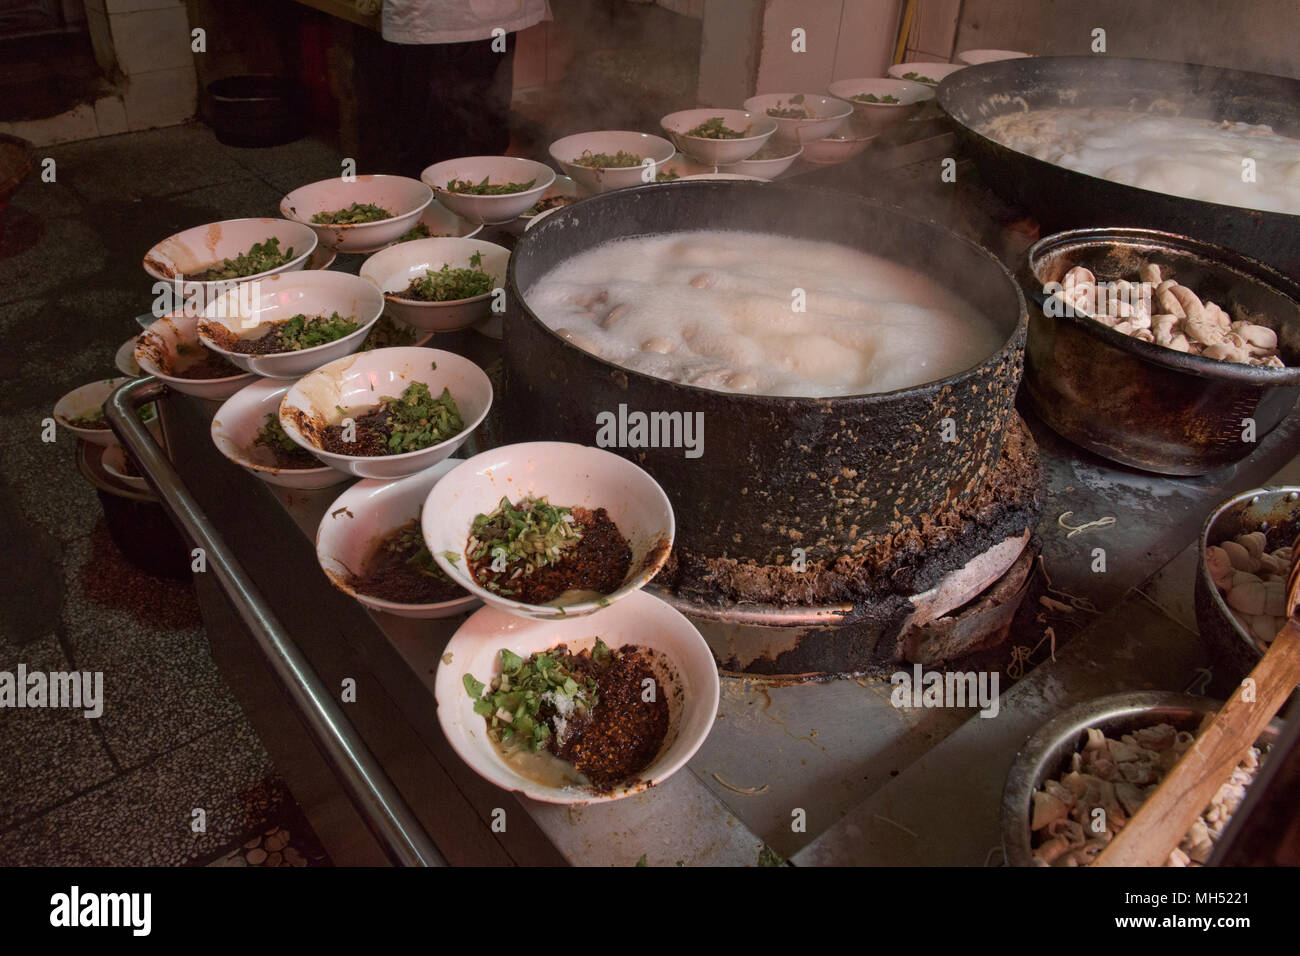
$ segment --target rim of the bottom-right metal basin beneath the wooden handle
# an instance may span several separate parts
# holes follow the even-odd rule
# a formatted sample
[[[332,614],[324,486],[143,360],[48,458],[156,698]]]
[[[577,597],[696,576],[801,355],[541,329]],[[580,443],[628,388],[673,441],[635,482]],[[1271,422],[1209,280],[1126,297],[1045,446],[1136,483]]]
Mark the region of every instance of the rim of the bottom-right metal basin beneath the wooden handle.
[[[1088,727],[1105,727],[1141,714],[1166,719],[1188,718],[1217,713],[1221,706],[1222,701],[1176,691],[1127,691],[1076,704],[1044,723],[1015,754],[1002,788],[1000,822],[1006,865],[1034,866],[1034,834],[1030,830],[1028,810],[1034,791],[1044,775],[1054,770],[1049,761],[1058,747],[1076,740]],[[1160,719],[1152,719],[1152,723],[1160,723]],[[1273,744],[1280,735],[1282,722],[1273,719],[1258,740]]]

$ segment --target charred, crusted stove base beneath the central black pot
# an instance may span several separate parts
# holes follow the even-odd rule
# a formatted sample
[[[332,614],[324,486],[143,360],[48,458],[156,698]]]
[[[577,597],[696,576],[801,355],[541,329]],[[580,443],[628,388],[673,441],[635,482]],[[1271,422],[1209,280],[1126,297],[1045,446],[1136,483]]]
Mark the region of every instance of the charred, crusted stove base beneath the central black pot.
[[[710,600],[698,578],[682,587],[680,571],[670,579],[676,587],[656,581],[651,588],[699,628],[724,672],[816,680],[887,676],[910,663],[941,666],[1006,637],[1039,553],[1032,528],[1040,498],[1037,449],[1014,416],[982,501],[956,510],[956,522],[935,522],[919,535],[926,542],[919,550],[900,549],[872,567],[858,583],[861,597],[823,604]],[[748,576],[768,570],[749,568]]]

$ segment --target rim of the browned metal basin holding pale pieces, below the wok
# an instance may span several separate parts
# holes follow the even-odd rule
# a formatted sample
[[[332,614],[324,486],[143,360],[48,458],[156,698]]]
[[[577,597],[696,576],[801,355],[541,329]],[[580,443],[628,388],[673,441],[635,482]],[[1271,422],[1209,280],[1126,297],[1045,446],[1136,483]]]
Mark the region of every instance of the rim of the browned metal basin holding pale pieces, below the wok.
[[[1034,281],[1031,298],[1039,306],[1043,304],[1041,277],[1039,265],[1049,252],[1061,250],[1083,248],[1091,246],[1160,246],[1170,251],[1197,255],[1217,268],[1227,269],[1238,276],[1269,286],[1273,291],[1291,299],[1300,312],[1300,285],[1274,269],[1271,265],[1257,259],[1235,252],[1212,242],[1195,239],[1190,235],[1166,233],[1158,229],[1141,229],[1138,226],[1093,226],[1088,229],[1066,229],[1065,232],[1046,235],[1032,246],[1026,254],[1026,264],[1030,277]],[[1097,338],[1106,345],[1131,352],[1143,362],[1148,362],[1164,368],[1186,372],[1205,378],[1231,381],[1260,386],[1291,386],[1300,385],[1300,367],[1264,368],[1260,365],[1243,365],[1236,362],[1221,362],[1206,359],[1201,355],[1174,351],[1154,342],[1141,339],[1115,332],[1109,325],[1096,321],[1086,315],[1071,315],[1069,312],[1053,316],[1056,321],[1065,321],[1076,329]]]

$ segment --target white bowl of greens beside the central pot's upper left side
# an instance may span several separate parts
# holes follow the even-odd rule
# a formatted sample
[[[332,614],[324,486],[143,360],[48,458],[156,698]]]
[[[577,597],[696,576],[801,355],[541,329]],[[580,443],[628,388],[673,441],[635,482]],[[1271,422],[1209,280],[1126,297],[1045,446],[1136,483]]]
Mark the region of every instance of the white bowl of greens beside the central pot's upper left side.
[[[404,290],[411,281],[428,271],[437,272],[445,264],[465,268],[474,254],[482,256],[480,268],[493,277],[493,290],[506,285],[506,267],[510,250],[482,239],[415,239],[376,252],[361,263],[361,278],[384,293],[385,311],[408,325],[433,332],[455,332],[473,325],[491,315],[493,291],[454,302],[417,302],[402,299],[394,293]]]

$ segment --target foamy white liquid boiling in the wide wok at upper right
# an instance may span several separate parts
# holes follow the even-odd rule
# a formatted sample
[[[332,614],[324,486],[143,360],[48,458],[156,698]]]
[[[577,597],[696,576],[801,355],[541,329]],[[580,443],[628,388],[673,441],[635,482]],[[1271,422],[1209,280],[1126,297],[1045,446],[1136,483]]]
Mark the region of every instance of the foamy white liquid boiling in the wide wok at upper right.
[[[1300,213],[1300,139],[1269,126],[1124,109],[1031,109],[1000,116],[979,131],[1101,179],[1208,203]],[[1243,160],[1253,161],[1245,178]]]

